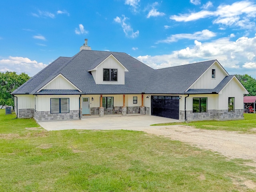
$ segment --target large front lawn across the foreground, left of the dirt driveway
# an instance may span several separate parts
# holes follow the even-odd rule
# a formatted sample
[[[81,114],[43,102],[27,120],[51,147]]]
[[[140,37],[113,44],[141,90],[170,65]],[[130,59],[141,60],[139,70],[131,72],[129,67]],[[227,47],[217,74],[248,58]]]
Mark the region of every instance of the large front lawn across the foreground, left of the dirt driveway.
[[[25,129],[36,122],[9,116],[0,110],[0,191],[255,191],[241,159],[137,131]]]

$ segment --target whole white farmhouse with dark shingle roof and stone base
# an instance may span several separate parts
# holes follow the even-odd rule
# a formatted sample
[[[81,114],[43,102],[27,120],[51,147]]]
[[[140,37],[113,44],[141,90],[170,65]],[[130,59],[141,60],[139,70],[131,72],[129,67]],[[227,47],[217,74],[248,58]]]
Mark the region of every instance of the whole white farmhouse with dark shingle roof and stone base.
[[[146,114],[179,120],[242,119],[248,91],[217,60],[154,70],[122,52],[85,44],[12,92],[18,118]]]

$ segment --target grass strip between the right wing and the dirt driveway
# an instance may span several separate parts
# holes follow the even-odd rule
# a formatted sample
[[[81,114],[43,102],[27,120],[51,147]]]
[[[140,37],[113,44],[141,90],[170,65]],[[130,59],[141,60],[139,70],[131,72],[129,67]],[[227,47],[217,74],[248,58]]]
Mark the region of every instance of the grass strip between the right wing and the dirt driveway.
[[[152,126],[166,126],[166,125],[188,125],[200,129],[208,130],[226,130],[239,131],[247,133],[256,133],[256,114],[244,114],[244,120],[228,120],[228,121],[194,121],[194,122],[177,122],[177,123],[160,123]],[[252,130],[254,128],[254,130]]]

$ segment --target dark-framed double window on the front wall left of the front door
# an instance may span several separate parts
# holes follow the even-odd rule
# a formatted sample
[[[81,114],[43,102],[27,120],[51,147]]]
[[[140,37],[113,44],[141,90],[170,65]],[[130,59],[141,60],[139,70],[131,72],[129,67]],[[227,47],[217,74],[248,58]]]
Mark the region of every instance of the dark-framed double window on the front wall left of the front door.
[[[51,98],[51,113],[69,113],[69,98]]]

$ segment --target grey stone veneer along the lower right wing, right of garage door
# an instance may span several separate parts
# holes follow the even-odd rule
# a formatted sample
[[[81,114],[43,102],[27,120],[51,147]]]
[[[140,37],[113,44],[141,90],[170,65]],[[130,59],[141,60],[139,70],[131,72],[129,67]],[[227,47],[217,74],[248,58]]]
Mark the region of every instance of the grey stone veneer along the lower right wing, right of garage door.
[[[236,109],[234,112],[228,112],[228,110],[208,110],[206,113],[193,113],[193,111],[187,111],[187,120],[229,120],[229,119],[241,119],[244,118],[244,110]],[[185,111],[180,111],[180,120],[185,120]]]

